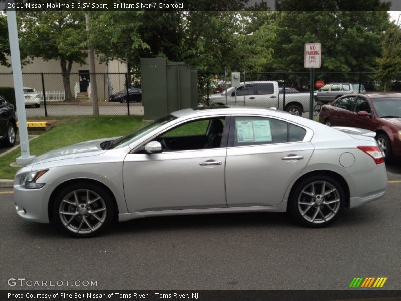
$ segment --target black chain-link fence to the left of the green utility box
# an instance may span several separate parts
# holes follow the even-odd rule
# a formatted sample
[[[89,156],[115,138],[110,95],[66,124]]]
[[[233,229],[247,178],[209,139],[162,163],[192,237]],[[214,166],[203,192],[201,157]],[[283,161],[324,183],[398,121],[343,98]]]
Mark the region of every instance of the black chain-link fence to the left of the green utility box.
[[[28,117],[93,115],[95,94],[101,115],[143,116],[139,74],[23,73],[22,77]],[[0,87],[14,87],[11,73],[0,73]]]

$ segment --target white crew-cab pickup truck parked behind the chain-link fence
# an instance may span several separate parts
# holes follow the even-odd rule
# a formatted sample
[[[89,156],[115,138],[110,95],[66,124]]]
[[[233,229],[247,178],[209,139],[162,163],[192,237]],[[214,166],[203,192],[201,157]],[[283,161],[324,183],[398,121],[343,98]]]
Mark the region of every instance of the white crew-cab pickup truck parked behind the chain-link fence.
[[[316,99],[317,94],[314,92],[313,107]],[[283,103],[284,94],[280,92],[277,81],[250,81],[246,82],[245,87],[244,83],[241,83],[241,86],[236,90],[234,87],[231,87],[221,94],[212,94],[209,96],[209,105],[275,107],[278,110],[301,116],[303,112],[309,112],[309,92],[288,92],[286,89],[284,107]]]

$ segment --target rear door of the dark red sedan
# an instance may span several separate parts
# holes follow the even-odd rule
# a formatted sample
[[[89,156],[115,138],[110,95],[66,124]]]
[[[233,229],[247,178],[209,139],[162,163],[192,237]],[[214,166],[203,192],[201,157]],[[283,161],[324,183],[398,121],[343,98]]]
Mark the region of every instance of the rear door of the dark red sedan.
[[[346,96],[336,100],[334,110],[330,114],[333,126],[353,126],[355,98],[356,96]]]

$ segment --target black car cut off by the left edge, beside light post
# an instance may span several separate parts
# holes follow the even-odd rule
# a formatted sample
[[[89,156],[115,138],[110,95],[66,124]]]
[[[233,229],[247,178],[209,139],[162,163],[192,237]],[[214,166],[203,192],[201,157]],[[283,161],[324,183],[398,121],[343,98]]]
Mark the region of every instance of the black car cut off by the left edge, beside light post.
[[[4,97],[0,96],[0,143],[11,147],[16,143],[16,116],[14,107]]]

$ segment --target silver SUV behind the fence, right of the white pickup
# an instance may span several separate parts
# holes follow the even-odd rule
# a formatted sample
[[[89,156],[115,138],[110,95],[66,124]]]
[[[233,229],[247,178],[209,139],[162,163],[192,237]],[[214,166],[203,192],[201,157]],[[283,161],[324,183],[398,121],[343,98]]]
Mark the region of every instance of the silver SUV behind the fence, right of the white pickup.
[[[366,92],[363,85],[360,86],[360,92]],[[359,93],[359,83],[330,83],[317,90],[318,101],[328,103],[336,100],[338,97],[349,93]]]

